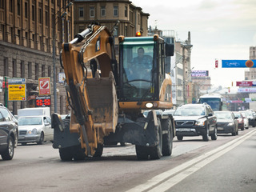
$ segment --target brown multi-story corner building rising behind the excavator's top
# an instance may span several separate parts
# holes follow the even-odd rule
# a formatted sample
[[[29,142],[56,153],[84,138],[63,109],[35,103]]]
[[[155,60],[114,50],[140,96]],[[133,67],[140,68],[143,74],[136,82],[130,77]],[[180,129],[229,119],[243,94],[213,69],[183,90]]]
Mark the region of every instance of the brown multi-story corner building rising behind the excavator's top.
[[[98,22],[113,31],[117,44],[119,35],[132,37],[140,32],[142,36],[147,36],[149,16],[129,0],[74,0],[74,34]]]

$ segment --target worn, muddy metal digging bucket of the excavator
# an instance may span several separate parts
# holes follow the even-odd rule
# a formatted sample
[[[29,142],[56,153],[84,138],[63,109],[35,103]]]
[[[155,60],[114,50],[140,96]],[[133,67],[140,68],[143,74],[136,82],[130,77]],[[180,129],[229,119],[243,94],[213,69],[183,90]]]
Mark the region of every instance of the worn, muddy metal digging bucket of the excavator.
[[[86,88],[94,128],[101,128],[105,136],[115,132],[118,123],[118,99],[113,74],[110,72],[109,78],[100,78],[99,75],[88,78]]]

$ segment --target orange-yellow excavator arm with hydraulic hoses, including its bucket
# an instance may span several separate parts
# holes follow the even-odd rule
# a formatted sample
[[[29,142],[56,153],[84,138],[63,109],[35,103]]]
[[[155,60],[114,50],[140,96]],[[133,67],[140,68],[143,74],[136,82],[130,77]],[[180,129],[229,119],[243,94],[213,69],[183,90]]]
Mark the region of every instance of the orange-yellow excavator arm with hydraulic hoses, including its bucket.
[[[70,133],[79,135],[88,156],[94,155],[98,145],[103,144],[103,137],[114,132],[118,122],[113,43],[106,26],[92,25],[71,42],[62,44],[62,66],[71,106]],[[89,62],[93,70],[88,69]]]

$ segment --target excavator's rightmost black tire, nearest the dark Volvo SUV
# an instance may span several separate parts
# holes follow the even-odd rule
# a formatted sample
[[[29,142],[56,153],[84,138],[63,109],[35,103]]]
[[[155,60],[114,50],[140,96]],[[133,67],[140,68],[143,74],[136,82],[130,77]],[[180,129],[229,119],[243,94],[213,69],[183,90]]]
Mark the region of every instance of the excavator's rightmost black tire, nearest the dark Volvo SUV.
[[[170,118],[165,119],[162,122],[163,132],[168,132],[162,134],[162,156],[170,156],[173,149],[173,126]]]

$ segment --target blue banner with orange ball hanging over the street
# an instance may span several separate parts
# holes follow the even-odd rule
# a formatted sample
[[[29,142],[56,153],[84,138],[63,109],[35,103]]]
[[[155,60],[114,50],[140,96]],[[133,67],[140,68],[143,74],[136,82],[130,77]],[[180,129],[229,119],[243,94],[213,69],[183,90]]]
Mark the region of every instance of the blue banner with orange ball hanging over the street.
[[[256,68],[256,60],[222,60],[222,68]]]

